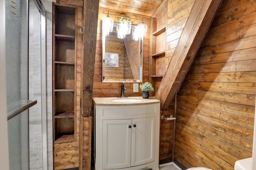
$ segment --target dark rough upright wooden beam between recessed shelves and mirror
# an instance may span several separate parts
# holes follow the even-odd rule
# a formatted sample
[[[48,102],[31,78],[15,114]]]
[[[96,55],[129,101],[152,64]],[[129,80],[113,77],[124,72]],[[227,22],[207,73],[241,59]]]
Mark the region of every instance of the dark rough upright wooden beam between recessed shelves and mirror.
[[[92,89],[98,27],[99,0],[84,0],[84,56],[82,71],[82,116],[92,114]]]

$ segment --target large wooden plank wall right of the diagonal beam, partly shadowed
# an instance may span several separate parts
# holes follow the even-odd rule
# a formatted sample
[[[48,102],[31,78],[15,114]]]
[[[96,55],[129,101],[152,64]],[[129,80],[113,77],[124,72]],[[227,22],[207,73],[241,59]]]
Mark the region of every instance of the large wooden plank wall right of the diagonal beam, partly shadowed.
[[[177,98],[174,158],[234,170],[252,156],[256,2],[223,0]]]

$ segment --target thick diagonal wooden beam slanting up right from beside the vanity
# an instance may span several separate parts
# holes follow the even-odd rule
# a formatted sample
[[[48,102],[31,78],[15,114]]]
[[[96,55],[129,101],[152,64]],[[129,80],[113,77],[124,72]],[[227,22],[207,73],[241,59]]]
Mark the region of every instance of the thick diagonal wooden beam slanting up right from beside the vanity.
[[[161,110],[168,109],[178,92],[221,2],[222,0],[195,1],[156,94],[156,98],[161,101]]]

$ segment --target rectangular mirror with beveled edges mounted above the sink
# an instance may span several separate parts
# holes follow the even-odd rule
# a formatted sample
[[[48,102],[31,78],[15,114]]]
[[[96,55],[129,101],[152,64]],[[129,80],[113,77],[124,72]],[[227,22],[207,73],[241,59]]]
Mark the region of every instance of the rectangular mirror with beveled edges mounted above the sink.
[[[102,82],[142,82],[143,38],[134,41],[130,33],[119,39],[116,27],[102,35]]]

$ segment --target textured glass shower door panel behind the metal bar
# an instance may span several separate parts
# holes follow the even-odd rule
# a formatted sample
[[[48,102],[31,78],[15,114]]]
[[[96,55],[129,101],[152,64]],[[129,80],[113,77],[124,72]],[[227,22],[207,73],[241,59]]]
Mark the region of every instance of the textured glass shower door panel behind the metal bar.
[[[10,170],[28,170],[28,1],[5,0],[6,102]],[[25,109],[25,108],[24,108]],[[18,114],[18,111],[21,112]]]

